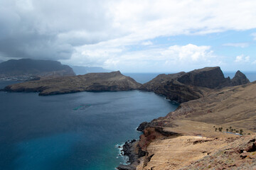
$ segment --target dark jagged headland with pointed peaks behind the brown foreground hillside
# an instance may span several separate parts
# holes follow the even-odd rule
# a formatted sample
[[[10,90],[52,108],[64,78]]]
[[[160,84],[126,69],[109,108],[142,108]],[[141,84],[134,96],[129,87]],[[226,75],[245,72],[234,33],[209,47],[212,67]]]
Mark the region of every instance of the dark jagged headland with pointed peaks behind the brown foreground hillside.
[[[238,72],[232,80],[225,78],[220,67],[206,67],[191,72],[177,74],[160,74],[143,84],[142,91],[154,91],[171,101],[183,103],[201,98],[209,89],[220,89],[224,86],[237,86],[250,82],[244,74]],[[207,89],[206,89],[207,88]]]

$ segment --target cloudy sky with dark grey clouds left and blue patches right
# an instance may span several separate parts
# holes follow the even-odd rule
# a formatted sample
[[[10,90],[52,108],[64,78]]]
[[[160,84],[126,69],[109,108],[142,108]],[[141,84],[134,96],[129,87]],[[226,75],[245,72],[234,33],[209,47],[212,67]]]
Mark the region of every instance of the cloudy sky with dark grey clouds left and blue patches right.
[[[256,71],[255,0],[0,0],[0,60]]]

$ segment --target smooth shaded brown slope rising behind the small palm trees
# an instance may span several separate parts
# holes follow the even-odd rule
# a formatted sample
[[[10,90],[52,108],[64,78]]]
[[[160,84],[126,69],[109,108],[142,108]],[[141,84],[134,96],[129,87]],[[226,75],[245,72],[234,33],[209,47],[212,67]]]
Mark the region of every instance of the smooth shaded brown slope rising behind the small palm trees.
[[[234,126],[256,132],[256,82],[242,86],[211,90],[198,100],[181,103],[181,106],[152,121],[152,125],[166,126],[170,120],[193,120],[216,125]]]

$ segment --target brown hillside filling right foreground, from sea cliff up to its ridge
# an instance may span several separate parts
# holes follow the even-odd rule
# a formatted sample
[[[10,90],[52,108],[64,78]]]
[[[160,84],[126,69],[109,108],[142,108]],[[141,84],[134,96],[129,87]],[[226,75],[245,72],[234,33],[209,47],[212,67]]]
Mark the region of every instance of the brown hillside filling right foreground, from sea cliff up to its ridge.
[[[255,98],[256,82],[209,89],[165,117],[144,123],[137,147],[146,154],[137,170],[256,168],[256,136],[248,135],[256,132]],[[180,136],[163,137],[171,132]]]

